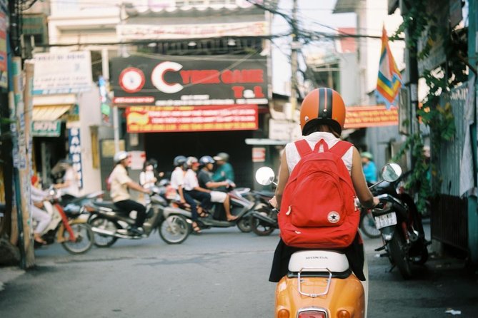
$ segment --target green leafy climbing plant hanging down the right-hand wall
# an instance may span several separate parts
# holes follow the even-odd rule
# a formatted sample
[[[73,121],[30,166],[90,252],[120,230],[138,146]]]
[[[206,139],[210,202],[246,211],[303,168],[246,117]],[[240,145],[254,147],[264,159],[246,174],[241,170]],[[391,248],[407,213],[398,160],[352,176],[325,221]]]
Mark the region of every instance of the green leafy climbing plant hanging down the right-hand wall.
[[[442,179],[437,173],[438,155],[441,146],[454,138],[455,124],[450,103],[443,103],[440,96],[467,81],[466,39],[459,31],[448,29],[448,24],[439,26],[437,18],[427,13],[427,0],[409,1],[409,10],[404,14],[403,23],[390,39],[393,41],[410,28],[407,33],[407,48],[420,61],[427,58],[437,46],[437,39],[442,39],[446,62],[434,70],[425,70],[423,77],[429,88],[422,106],[416,110],[417,118],[407,120],[412,124],[421,120],[430,129],[430,148],[432,157],[424,155],[424,133],[415,131],[407,137],[395,160],[410,151],[414,167],[409,175],[406,187],[417,194],[419,211],[424,211],[426,200],[439,193]],[[424,41],[427,39],[427,41]],[[419,49],[417,43],[424,43]]]

